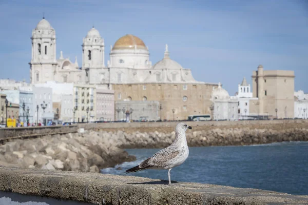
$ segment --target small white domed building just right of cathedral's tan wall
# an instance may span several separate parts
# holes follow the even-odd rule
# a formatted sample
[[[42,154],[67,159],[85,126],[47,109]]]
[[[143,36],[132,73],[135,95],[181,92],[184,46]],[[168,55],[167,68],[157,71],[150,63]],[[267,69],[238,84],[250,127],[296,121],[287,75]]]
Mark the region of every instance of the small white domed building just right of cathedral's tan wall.
[[[218,84],[211,95],[213,101],[214,120],[237,120],[238,119],[238,100],[237,97],[229,96],[229,93]]]

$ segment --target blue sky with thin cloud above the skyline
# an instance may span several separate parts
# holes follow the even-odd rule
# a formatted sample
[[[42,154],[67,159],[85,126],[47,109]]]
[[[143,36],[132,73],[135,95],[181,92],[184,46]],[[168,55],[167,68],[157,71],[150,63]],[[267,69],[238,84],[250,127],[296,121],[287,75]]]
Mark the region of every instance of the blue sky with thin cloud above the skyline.
[[[31,32],[45,18],[55,29],[57,58],[82,65],[82,39],[94,25],[110,45],[133,34],[149,47],[155,64],[170,57],[197,80],[223,84],[233,95],[242,78],[251,84],[265,70],[294,70],[295,90],[308,92],[308,2],[251,1],[4,1],[0,0],[0,78],[29,81]]]

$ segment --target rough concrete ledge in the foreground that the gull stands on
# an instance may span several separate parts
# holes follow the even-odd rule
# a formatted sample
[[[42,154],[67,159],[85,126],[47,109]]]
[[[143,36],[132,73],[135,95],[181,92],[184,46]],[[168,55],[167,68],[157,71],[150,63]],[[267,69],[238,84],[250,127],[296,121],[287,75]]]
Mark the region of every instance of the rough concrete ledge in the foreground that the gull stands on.
[[[0,168],[0,191],[94,204],[308,203],[308,195],[201,183],[165,183],[132,176]]]

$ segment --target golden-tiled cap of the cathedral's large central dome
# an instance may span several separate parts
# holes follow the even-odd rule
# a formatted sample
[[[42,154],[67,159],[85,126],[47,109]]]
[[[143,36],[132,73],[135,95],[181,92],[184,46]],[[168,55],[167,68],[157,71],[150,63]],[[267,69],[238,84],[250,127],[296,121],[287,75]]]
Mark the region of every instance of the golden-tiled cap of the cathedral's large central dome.
[[[115,49],[134,49],[134,46],[137,46],[138,49],[147,49],[143,40],[139,37],[127,34],[122,36],[115,42],[112,50]]]

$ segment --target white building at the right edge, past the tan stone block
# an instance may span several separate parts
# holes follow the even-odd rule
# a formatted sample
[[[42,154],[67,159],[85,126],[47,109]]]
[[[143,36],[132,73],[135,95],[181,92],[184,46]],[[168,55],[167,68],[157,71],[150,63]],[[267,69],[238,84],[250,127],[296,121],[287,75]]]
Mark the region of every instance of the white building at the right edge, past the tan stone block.
[[[308,94],[302,90],[294,92],[294,117],[308,119]]]

